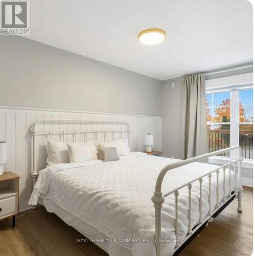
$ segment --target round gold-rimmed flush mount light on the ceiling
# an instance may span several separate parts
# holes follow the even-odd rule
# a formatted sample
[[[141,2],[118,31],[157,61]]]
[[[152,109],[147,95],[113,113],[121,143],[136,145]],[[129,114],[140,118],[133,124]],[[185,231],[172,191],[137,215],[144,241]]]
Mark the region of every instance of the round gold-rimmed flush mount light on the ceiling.
[[[166,39],[166,32],[163,29],[146,29],[139,33],[138,39],[144,45],[157,45]]]

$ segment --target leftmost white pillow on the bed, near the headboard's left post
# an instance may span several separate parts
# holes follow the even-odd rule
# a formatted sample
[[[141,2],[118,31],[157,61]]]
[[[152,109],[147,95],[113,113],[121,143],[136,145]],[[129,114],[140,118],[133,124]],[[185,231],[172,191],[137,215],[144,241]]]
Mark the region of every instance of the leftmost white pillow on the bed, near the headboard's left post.
[[[67,145],[61,141],[46,140],[47,163],[49,165],[57,163],[69,163]]]

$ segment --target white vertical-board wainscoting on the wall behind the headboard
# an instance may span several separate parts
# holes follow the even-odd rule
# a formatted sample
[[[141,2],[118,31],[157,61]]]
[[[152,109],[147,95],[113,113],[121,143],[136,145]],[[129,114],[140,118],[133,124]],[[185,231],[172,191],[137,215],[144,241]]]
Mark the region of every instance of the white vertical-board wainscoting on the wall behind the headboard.
[[[154,134],[154,150],[162,150],[162,117],[161,116],[140,116],[104,113],[86,113],[73,111],[38,110],[25,108],[9,108],[0,106],[0,141],[7,141],[7,162],[4,171],[13,172],[20,176],[20,210],[29,208],[27,204],[32,191],[31,177],[31,145],[32,134],[31,125],[39,118],[61,118],[77,120],[107,120],[107,121],[126,121],[130,125],[130,148],[131,151],[144,151],[144,134]],[[70,130],[77,127],[60,127],[56,124],[41,124],[42,129],[63,129]],[[46,127],[49,125],[49,127]],[[77,124],[79,125],[79,123]],[[81,124],[82,125],[82,124]],[[90,125],[91,126],[91,125]],[[83,127],[84,128],[84,127]],[[91,127],[90,127],[91,128]],[[86,127],[86,129],[88,129]],[[37,169],[42,169],[46,165],[47,152],[44,146],[48,135],[37,137]],[[59,140],[59,137],[55,138]],[[54,135],[53,135],[54,140]],[[66,138],[67,142],[73,142],[73,138]]]

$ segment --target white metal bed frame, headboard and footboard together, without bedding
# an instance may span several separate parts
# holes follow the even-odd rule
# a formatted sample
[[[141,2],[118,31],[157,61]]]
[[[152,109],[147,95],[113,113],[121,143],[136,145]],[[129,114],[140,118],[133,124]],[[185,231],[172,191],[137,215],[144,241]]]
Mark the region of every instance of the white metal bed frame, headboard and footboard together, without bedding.
[[[71,130],[71,131],[53,131],[53,130],[38,130],[37,125],[41,122],[73,122],[73,123],[88,123],[88,124],[124,124],[126,125],[126,129],[121,129],[121,130],[114,130],[114,129],[103,129],[103,130]],[[32,134],[33,134],[33,146],[32,146],[32,178],[33,178],[33,185],[36,182],[36,178],[38,175],[38,170],[36,170],[36,136],[40,134],[48,134],[50,135],[50,138],[52,137],[53,134],[59,134],[59,139],[60,141],[63,140],[64,134],[72,134],[73,135],[73,142],[76,142],[76,135],[77,134],[84,134],[84,142],[86,142],[87,139],[87,133],[92,133],[95,135],[95,139],[97,139],[98,133],[103,133],[104,134],[104,141],[106,140],[106,134],[107,133],[112,133],[113,134],[113,139],[115,136],[115,133],[120,133],[121,138],[123,133],[128,134],[128,140],[130,142],[130,129],[129,129],[129,123],[128,122],[122,122],[122,121],[98,121],[98,120],[74,120],[74,119],[45,119],[41,118],[35,121],[35,123],[32,126]],[[225,152],[233,151],[233,150],[239,150],[239,157],[237,157],[236,160],[231,160],[229,163],[224,164],[216,169],[214,169],[212,172],[207,173],[205,175],[202,175],[201,177],[195,178],[192,181],[189,181],[177,188],[174,188],[167,193],[163,194],[161,191],[161,185],[164,180],[165,175],[172,169],[190,164],[193,162],[201,161],[204,159],[208,159],[209,157],[216,156]],[[204,154],[201,156],[197,156],[194,158],[190,158],[187,160],[179,161],[177,163],[172,163],[166,165],[163,169],[161,169],[157,180],[156,180],[156,186],[155,186],[155,191],[154,195],[152,196],[151,200],[154,203],[154,208],[155,208],[155,244],[156,244],[156,254],[157,256],[161,256],[161,208],[163,207],[163,203],[165,201],[165,197],[174,194],[175,196],[175,234],[176,234],[176,246],[175,246],[175,254],[178,254],[178,251],[181,249],[182,246],[185,244],[189,243],[189,240],[193,239],[194,236],[196,236],[201,228],[203,228],[205,225],[208,224],[208,222],[213,221],[214,216],[217,215],[218,211],[221,211],[224,209],[230,201],[232,201],[235,197],[238,196],[238,211],[242,211],[242,189],[236,187],[236,174],[237,174],[237,167],[238,167],[238,176],[241,180],[241,163],[242,163],[242,156],[241,156],[241,148],[239,146],[233,146],[229,148],[225,148],[224,150],[219,150],[216,152]],[[226,172],[226,166],[228,166],[229,174],[230,174],[230,168],[231,166],[234,166],[234,172],[235,172],[235,189],[234,191],[230,190],[229,186],[229,191],[225,190],[225,172]],[[223,171],[223,200],[219,201],[219,173],[220,170],[222,169]],[[216,173],[217,175],[217,191],[216,191],[216,198],[217,198],[217,204],[216,207],[213,209],[211,206],[211,177],[212,174]],[[202,220],[202,182],[205,177],[208,177],[209,181],[209,212],[208,216],[206,217],[205,220]],[[231,177],[229,175],[229,184],[231,182]],[[192,183],[195,181],[199,181],[200,184],[200,199],[199,199],[199,212],[200,212],[200,218],[199,218],[199,223],[196,225],[194,228],[191,227],[191,192],[192,192]],[[182,243],[178,242],[178,195],[179,192],[178,190],[183,188],[183,187],[188,187],[189,189],[189,229],[188,229],[188,234],[186,239]],[[36,207],[34,207],[36,208]]]

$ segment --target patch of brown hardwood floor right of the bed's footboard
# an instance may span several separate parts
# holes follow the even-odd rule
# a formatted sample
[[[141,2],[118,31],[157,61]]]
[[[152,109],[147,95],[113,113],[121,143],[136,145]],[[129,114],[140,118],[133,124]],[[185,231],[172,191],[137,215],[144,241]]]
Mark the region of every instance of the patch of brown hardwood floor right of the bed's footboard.
[[[238,201],[231,202],[180,255],[251,255],[252,253],[252,189],[245,187],[243,212]]]

